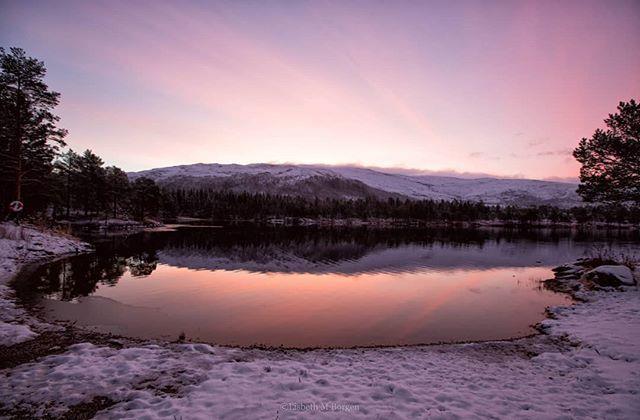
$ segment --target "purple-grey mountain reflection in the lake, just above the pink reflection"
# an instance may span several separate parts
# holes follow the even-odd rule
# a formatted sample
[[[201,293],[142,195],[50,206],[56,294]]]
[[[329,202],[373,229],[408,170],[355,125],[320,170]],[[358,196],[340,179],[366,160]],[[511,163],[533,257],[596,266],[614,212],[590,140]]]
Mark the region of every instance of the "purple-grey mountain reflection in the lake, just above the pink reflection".
[[[167,247],[158,252],[161,264],[208,270],[246,270],[281,273],[411,272],[418,269],[529,267],[559,265],[584,256],[590,245],[569,240],[554,245],[497,243],[452,246],[450,244],[373,246],[291,244],[278,247],[217,249]],[[342,251],[348,251],[340,254]],[[323,256],[323,254],[325,256]],[[326,256],[327,254],[332,257]]]

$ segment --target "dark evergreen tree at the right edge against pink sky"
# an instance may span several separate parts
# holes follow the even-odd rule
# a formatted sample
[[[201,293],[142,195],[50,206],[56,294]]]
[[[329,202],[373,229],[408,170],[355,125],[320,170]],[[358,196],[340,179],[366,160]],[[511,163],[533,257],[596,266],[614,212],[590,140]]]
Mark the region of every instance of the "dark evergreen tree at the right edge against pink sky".
[[[620,102],[605,124],[573,151],[582,164],[578,193],[589,202],[640,204],[640,104]]]

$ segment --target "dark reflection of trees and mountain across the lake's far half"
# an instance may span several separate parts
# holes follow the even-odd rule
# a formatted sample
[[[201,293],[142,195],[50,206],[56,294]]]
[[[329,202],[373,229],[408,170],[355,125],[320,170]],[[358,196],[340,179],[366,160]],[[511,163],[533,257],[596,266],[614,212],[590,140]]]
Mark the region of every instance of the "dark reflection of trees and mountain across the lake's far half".
[[[40,267],[16,282],[21,298],[48,295],[71,300],[115,285],[126,273],[148,276],[158,264],[207,270],[360,274],[552,266],[592,248],[607,247],[606,235],[535,230],[323,230],[315,228],[182,228],[110,238],[96,253]],[[626,237],[624,236],[626,235]],[[638,234],[618,236],[615,247]],[[622,244],[622,245],[621,245]]]

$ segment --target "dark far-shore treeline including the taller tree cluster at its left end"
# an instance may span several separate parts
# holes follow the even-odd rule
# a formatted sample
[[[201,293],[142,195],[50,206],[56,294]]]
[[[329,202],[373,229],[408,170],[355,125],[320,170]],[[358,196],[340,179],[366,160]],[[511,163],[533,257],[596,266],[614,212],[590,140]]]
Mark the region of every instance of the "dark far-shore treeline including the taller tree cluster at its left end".
[[[27,195],[27,191],[30,195]],[[640,208],[628,205],[516,207],[472,201],[409,200],[375,197],[361,199],[309,199],[214,189],[170,189],[152,179],[130,181],[116,166],[105,166],[91,150],[56,153],[43,182],[24,190],[30,197],[28,214],[53,219],[196,217],[210,220],[273,218],[396,219],[423,222],[494,220],[532,224],[640,223]]]

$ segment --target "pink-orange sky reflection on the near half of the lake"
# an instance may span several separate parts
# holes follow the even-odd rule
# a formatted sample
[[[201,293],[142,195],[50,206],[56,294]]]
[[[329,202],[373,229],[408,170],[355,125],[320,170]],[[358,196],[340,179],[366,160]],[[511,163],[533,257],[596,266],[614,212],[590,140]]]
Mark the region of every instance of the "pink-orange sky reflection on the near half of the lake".
[[[159,309],[166,315],[161,326],[136,319],[142,326],[132,327],[150,335],[161,328],[170,336],[182,329],[192,338],[241,344],[415,344],[530,332],[546,305],[566,301],[517,282],[545,275],[539,267],[345,276],[159,265],[148,278],[126,274],[96,294]]]

